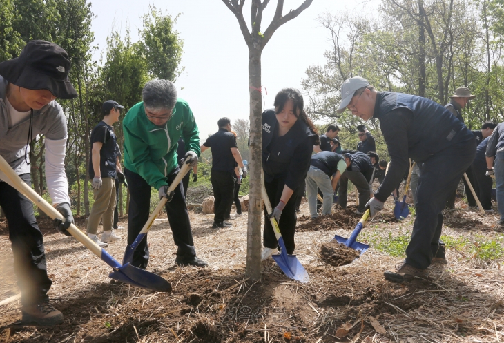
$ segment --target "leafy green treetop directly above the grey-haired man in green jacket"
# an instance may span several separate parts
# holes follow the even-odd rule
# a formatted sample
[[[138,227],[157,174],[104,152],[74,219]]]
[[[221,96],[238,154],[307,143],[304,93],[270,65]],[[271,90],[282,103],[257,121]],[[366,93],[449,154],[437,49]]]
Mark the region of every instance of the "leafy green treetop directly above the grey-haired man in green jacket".
[[[139,30],[148,71],[159,79],[175,81],[184,70],[180,67],[184,42],[177,30],[173,30],[178,16],[164,15],[154,6],[149,6],[148,10],[142,17],[144,29]]]

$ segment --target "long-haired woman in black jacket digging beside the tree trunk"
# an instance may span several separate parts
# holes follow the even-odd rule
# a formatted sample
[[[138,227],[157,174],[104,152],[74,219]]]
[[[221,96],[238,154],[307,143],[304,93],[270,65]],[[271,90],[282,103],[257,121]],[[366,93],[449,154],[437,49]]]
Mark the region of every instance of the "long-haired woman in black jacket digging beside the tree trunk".
[[[294,251],[295,199],[304,184],[318,134],[304,112],[299,90],[284,88],[275,96],[275,108],[262,113],[262,168],[269,201],[276,205],[278,221],[287,253]],[[278,251],[278,242],[266,210],[262,260]]]

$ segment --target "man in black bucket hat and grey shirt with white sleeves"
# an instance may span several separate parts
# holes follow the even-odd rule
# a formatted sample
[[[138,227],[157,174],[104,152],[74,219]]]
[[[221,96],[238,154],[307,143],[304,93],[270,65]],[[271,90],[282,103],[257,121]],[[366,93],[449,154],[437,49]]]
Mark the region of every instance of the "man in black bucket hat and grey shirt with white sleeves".
[[[66,51],[47,41],[30,41],[19,57],[0,63],[0,155],[31,185],[30,142],[39,134],[45,136],[47,187],[53,206],[65,218],[54,220],[54,225],[66,236],[73,222],[64,167],[68,136],[63,109],[55,98],[77,97],[68,72]],[[9,225],[23,324],[60,324],[63,315],[47,295],[52,282],[33,205],[1,172],[0,206]]]

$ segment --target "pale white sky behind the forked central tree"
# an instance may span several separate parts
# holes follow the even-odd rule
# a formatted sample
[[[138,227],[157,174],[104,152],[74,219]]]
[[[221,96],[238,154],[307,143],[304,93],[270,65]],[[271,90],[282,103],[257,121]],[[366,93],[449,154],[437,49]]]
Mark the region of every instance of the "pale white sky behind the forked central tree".
[[[376,1],[378,2],[378,1]],[[244,18],[250,25],[250,3],[244,5]],[[297,8],[302,0],[284,1],[284,14]],[[369,2],[367,2],[369,6]],[[217,131],[223,116],[233,121],[249,118],[248,48],[234,14],[220,0],[101,0],[91,10],[95,59],[106,49],[106,38],[113,28],[123,32],[130,27],[132,41],[139,39],[142,14],[153,5],[165,13],[180,14],[175,24],[184,41],[182,66],[178,77],[178,96],[188,101],[204,139]],[[263,107],[273,107],[275,94],[283,87],[302,90],[301,81],[309,65],[323,65],[324,52],[330,48],[329,31],[320,27],[319,14],[362,11],[360,0],[313,0],[307,10],[282,25],[262,52]],[[266,30],[276,8],[270,1],[264,10],[261,31]],[[266,95],[267,92],[267,95]],[[307,102],[305,100],[305,102]]]

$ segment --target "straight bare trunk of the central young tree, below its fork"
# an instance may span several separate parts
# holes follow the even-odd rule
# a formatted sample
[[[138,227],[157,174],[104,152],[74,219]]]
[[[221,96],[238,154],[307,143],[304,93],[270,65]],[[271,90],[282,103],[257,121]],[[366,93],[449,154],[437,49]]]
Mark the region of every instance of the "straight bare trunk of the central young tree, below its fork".
[[[249,46],[250,192],[247,229],[246,276],[261,277],[262,94],[261,51]]]

